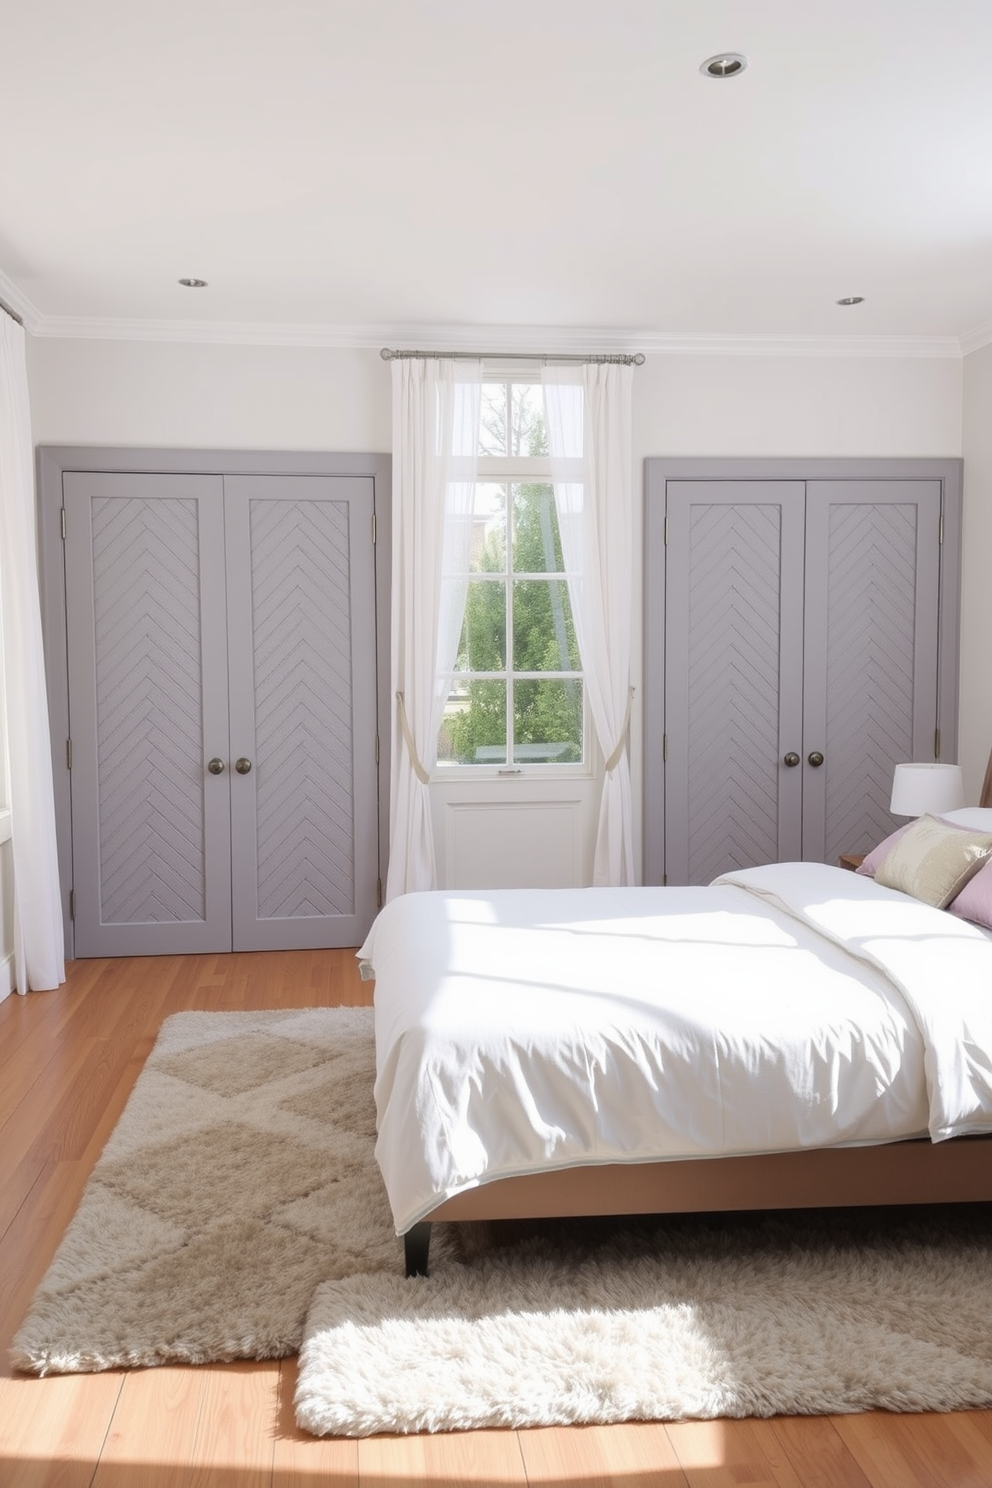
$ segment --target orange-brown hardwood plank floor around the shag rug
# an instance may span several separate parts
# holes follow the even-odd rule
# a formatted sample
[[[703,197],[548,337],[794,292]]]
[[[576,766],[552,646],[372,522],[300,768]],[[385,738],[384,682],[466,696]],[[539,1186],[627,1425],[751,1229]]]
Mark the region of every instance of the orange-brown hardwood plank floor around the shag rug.
[[[361,1004],[348,951],[76,961],[0,1004],[1,1488],[971,1488],[992,1412],[634,1423],[314,1440],[293,1359],[48,1379],[7,1344],[170,1013]]]

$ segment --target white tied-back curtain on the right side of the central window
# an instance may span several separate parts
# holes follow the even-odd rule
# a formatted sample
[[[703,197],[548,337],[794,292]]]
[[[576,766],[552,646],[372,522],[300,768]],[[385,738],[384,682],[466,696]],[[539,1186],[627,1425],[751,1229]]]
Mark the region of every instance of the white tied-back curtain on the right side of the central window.
[[[605,760],[593,884],[632,884],[632,371],[619,363],[546,366],[543,384],[562,558],[589,713]]]

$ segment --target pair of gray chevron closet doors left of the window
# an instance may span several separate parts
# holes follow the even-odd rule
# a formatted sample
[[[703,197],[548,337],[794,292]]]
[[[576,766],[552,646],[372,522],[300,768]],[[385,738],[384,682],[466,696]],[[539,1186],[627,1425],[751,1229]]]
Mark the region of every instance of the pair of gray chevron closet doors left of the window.
[[[76,954],[358,945],[373,481],[67,473],[64,500]]]

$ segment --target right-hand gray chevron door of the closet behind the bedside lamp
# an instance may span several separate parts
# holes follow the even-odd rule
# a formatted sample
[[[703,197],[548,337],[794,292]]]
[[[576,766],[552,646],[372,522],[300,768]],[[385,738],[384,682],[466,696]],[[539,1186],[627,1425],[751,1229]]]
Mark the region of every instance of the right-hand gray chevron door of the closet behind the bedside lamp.
[[[901,824],[894,765],[933,759],[940,497],[938,481],[806,487],[806,859],[882,841]]]

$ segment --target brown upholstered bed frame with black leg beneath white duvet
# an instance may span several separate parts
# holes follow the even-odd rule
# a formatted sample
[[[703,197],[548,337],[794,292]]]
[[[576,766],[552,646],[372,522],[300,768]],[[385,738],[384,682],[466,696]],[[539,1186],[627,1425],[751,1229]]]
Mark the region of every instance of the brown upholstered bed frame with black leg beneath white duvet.
[[[992,806],[992,754],[980,805]],[[406,1274],[425,1275],[436,1220],[974,1202],[992,1202],[992,1137],[611,1164],[498,1178],[446,1199],[406,1232],[403,1244]]]

